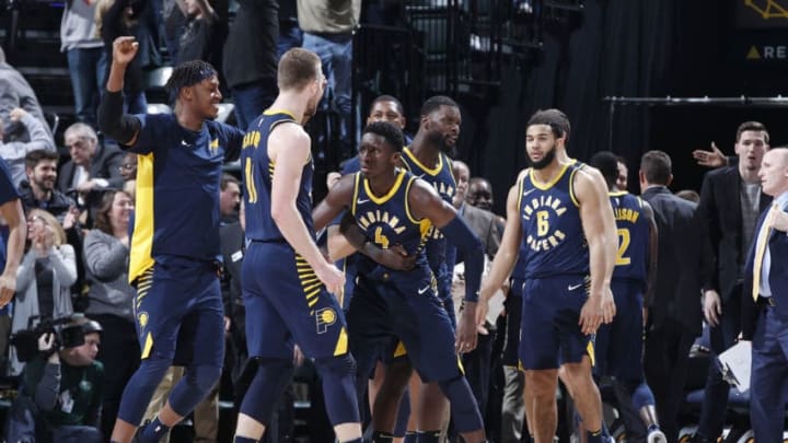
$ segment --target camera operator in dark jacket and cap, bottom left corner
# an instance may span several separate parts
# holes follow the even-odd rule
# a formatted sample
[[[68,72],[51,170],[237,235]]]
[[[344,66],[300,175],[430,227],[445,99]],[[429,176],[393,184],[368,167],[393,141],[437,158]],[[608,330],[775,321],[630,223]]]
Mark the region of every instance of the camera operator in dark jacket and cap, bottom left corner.
[[[96,429],[101,412],[104,369],[95,361],[101,345],[99,323],[74,315],[61,329],[66,341],[58,349],[55,334],[38,338],[39,353],[23,372],[23,384],[14,408],[27,409],[34,421],[27,432],[10,420],[9,441],[100,443]],[[68,340],[66,337],[70,337]],[[18,413],[13,413],[14,417]]]

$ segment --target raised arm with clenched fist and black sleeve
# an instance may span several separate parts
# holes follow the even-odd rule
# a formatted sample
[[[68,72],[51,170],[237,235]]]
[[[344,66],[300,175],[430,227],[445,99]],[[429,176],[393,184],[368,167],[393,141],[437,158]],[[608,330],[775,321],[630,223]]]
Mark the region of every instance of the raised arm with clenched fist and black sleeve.
[[[135,144],[141,128],[137,117],[123,113],[124,75],[138,49],[139,43],[135,37],[115,38],[106,93],[99,106],[99,127],[108,137],[125,145]]]

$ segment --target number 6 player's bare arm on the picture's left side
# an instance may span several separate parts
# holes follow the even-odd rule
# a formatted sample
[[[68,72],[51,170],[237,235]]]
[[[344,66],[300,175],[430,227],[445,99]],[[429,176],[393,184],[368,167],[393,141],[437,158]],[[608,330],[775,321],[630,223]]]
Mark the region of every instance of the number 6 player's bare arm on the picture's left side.
[[[519,183],[519,180],[518,180]],[[507,220],[506,228],[503,229],[503,236],[501,237],[500,247],[498,253],[493,259],[487,278],[482,284],[482,292],[479,294],[479,305],[476,310],[476,324],[480,325],[484,323],[487,316],[487,304],[489,299],[499,290],[503,283],[509,279],[509,276],[514,268],[517,263],[518,254],[520,252],[520,242],[522,242],[522,225],[520,224],[520,207],[518,206],[520,187],[515,183],[514,186],[509,188],[509,196],[507,197]]]

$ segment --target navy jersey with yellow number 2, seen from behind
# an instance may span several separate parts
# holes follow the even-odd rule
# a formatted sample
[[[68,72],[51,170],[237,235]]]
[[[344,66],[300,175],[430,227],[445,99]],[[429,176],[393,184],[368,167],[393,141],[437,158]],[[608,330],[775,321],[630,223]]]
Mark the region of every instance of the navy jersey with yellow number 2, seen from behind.
[[[611,193],[610,199],[618,233],[618,252],[613,278],[646,283],[649,222],[642,200],[626,191]]]

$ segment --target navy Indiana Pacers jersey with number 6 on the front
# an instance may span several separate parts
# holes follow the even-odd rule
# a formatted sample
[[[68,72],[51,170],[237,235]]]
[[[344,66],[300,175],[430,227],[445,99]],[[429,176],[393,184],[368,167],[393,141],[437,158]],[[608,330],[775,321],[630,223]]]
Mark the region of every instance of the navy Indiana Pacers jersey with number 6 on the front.
[[[520,260],[526,279],[589,272],[588,243],[572,190],[581,167],[582,163],[567,164],[548,184],[536,183],[533,170],[520,180]]]

